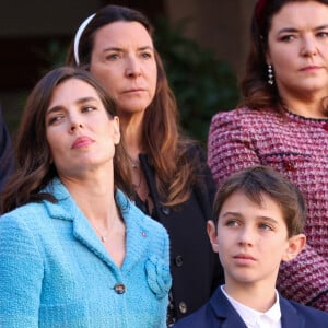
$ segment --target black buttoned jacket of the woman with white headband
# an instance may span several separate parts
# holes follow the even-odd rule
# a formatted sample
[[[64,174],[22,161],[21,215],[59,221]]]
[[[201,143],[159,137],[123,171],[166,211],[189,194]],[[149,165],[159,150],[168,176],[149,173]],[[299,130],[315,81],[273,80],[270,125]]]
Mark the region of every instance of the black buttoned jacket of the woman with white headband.
[[[177,210],[161,204],[153,167],[147,155],[139,155],[154,201],[154,219],[166,227],[169,235],[172,292],[177,319],[202,306],[209,301],[216,285],[223,283],[219,256],[212,251],[207,234],[207,221],[212,219],[215,184],[206,165],[203,153],[195,148],[190,152],[191,156],[198,156],[204,164],[200,173],[204,184],[195,186],[190,199]]]

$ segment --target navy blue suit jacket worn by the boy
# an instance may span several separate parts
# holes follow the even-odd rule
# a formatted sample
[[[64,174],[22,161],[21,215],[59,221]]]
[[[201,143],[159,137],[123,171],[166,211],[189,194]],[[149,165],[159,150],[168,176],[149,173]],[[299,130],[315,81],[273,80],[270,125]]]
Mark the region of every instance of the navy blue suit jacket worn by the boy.
[[[327,328],[328,313],[288,301],[280,295],[282,328]],[[174,325],[174,328],[247,328],[238,313],[218,288],[200,309]]]

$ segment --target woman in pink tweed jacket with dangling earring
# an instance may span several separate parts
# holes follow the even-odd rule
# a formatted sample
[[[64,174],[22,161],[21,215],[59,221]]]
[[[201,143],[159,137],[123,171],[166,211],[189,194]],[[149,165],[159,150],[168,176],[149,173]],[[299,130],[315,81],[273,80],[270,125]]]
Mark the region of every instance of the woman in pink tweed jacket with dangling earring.
[[[328,312],[328,0],[257,1],[241,90],[239,108],[212,118],[214,179],[262,164],[301,188],[308,245],[281,266],[278,289]]]

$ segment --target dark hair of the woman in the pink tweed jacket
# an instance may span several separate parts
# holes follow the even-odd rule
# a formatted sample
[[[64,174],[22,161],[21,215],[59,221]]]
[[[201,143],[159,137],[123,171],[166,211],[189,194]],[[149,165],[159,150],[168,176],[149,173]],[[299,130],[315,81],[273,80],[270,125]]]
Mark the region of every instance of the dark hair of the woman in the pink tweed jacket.
[[[241,80],[243,101],[239,106],[254,109],[273,108],[283,113],[277,84],[268,83],[268,34],[273,15],[289,2],[306,2],[313,0],[258,0],[251,19],[250,51],[246,61],[244,78]],[[314,0],[328,4],[328,0]],[[273,68],[274,69],[274,68]],[[324,104],[323,104],[324,105]]]

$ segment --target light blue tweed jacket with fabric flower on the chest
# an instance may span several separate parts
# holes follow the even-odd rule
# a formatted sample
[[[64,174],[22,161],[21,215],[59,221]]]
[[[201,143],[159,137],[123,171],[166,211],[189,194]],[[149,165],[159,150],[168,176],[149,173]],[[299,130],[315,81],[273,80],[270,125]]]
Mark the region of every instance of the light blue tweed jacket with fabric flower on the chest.
[[[110,259],[66,187],[59,200],[0,218],[0,327],[166,327],[168,235],[121,191],[126,223],[121,268]]]

